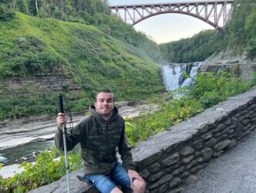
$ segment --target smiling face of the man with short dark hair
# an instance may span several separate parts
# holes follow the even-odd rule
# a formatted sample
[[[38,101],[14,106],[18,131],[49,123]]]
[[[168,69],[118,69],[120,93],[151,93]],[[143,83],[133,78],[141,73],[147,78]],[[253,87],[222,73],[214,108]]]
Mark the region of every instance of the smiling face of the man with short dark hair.
[[[97,113],[103,117],[111,116],[114,109],[114,96],[112,93],[98,93],[97,100],[95,102]]]

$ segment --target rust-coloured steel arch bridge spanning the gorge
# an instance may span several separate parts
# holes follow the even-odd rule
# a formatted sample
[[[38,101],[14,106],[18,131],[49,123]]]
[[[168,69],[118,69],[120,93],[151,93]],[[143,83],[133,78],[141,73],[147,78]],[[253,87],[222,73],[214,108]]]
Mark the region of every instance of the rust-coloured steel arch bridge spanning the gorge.
[[[154,15],[180,13],[207,22],[220,32],[230,21],[234,0],[204,0],[200,2],[154,3],[146,5],[111,5],[111,11],[124,22],[135,25]]]

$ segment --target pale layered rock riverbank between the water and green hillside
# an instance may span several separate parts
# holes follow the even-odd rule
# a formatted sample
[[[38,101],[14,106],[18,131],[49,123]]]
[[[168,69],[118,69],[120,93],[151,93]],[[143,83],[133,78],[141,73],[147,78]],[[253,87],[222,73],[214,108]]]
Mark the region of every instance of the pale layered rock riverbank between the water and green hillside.
[[[136,117],[143,110],[148,111],[156,107],[156,105],[135,102],[119,102],[116,106],[123,117]],[[73,124],[77,124],[86,114],[86,111],[73,113]],[[0,121],[0,151],[22,144],[52,140],[55,130],[54,115]]]

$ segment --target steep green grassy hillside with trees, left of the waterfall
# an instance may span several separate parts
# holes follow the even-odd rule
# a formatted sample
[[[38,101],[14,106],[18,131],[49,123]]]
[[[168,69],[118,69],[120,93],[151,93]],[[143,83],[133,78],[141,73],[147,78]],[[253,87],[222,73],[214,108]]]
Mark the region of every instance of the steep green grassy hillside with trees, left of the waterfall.
[[[1,0],[0,119],[56,113],[59,93],[80,111],[104,88],[117,100],[163,91],[157,44],[112,16],[104,2],[33,2]]]

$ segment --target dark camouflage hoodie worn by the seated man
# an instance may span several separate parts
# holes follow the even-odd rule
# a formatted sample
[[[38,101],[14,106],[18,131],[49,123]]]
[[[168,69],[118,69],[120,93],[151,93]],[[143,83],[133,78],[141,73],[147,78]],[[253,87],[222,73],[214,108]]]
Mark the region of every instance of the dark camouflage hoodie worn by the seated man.
[[[90,115],[80,120],[67,134],[67,151],[80,143],[84,160],[84,174],[108,174],[117,163],[116,147],[125,168],[134,169],[131,152],[125,137],[125,120],[114,107],[112,117],[106,121],[90,106]],[[63,133],[59,128],[55,134],[56,147],[63,151]]]

